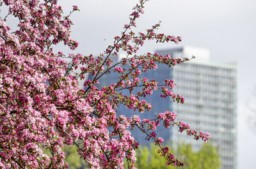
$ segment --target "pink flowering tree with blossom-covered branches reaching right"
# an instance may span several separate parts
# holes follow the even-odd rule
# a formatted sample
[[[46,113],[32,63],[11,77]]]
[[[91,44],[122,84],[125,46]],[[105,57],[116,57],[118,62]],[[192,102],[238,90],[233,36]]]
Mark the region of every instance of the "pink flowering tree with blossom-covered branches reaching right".
[[[145,1],[140,0],[133,8],[122,34],[99,56],[53,52],[52,47],[61,41],[72,50],[78,45],[70,38],[70,16],[63,16],[57,0],[0,1],[8,9],[8,15],[0,19],[0,168],[68,168],[63,145],[76,145],[89,168],[134,168],[138,142],[129,128],[139,128],[159,146],[167,165],[180,166],[182,163],[164,147],[163,138],[154,132],[161,121],[164,127],[178,126],[180,132],[196,140],[209,138],[207,133],[176,122],[174,112],[159,112],[154,119],[116,115],[116,107],[121,104],[138,112],[150,110],[152,106],[143,98],[154,90],[163,92],[159,97],[184,102],[182,96],[172,92],[172,80],[141,78],[141,73],[156,70],[157,64],[175,66],[189,60],[137,54],[147,40],[181,41],[179,36],[156,33],[159,24],[144,33],[134,33]],[[73,11],[79,10],[73,7]],[[6,25],[10,17],[17,19],[13,29]],[[117,57],[121,50],[127,57],[113,63],[110,56]],[[72,61],[66,62],[64,57]],[[111,70],[120,78],[98,89],[100,78]],[[88,74],[92,80],[86,80]],[[79,88],[78,80],[85,81],[84,89]],[[135,88],[140,92],[134,92]],[[124,90],[131,94],[122,94]]]

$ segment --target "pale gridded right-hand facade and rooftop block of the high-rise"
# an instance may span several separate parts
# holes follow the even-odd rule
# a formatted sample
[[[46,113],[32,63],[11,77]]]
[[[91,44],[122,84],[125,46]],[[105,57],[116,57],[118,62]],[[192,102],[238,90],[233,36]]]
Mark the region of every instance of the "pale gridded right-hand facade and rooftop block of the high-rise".
[[[218,147],[222,168],[236,169],[236,64],[211,62],[209,51],[200,48],[159,50],[157,54],[170,54],[173,57],[196,56],[192,61],[174,66],[171,70],[172,78],[177,84],[173,92],[181,94],[185,103],[180,105],[170,102],[169,108],[177,114],[178,121],[188,123],[197,131],[210,133],[209,142]],[[200,149],[202,145],[202,142],[195,141],[184,133],[170,133],[173,146],[186,142],[191,143],[194,149]]]

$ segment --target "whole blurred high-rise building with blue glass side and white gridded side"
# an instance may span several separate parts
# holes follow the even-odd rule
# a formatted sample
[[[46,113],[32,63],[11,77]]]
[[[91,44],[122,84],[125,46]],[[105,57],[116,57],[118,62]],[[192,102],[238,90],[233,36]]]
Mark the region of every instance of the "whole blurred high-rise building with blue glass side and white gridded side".
[[[159,65],[156,71],[150,70],[144,74],[149,80],[155,79],[157,82],[163,82],[166,78],[173,79],[177,84],[173,92],[182,95],[185,103],[173,103],[172,99],[161,98],[161,91],[154,91],[147,98],[154,108],[150,112],[140,114],[141,119],[152,118],[155,112],[175,112],[177,121],[188,123],[196,131],[211,134],[210,142],[219,149],[222,169],[236,169],[236,64],[211,62],[209,51],[202,48],[180,47],[159,50],[156,53],[169,54],[176,58],[195,55],[196,58],[171,68]],[[116,74],[102,77],[100,85],[116,82]],[[118,108],[117,112],[127,117],[134,114],[125,107]],[[162,125],[157,129],[157,133],[157,136],[164,138],[165,142],[170,141],[174,147],[185,142],[191,143],[193,149],[199,150],[204,143],[186,136],[186,133],[179,133],[175,127],[165,129]],[[132,131],[132,135],[140,145],[149,145],[139,130]]]

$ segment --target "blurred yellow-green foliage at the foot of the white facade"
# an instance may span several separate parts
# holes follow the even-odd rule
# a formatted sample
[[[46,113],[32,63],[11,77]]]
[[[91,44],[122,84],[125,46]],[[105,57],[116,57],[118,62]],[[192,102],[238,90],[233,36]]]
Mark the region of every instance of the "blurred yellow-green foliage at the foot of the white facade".
[[[155,145],[140,147],[137,151],[136,168],[138,169],[173,169],[175,166],[166,166],[163,157],[159,156]],[[176,158],[184,163],[180,169],[220,169],[221,162],[216,149],[211,143],[204,143],[200,151],[193,151],[190,144],[180,144],[172,150]]]

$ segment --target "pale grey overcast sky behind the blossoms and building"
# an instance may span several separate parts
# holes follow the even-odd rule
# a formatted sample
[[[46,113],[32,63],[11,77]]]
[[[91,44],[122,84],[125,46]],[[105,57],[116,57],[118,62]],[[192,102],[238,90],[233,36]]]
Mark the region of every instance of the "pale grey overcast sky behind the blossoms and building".
[[[72,37],[79,41],[75,52],[102,53],[120,35],[136,0],[59,1],[64,13],[72,14]],[[191,46],[208,48],[211,60],[237,62],[238,168],[255,168],[256,121],[251,108],[256,98],[256,1],[255,0],[150,0],[137,21],[138,31],[162,21],[158,33],[181,36],[182,43],[145,43],[140,53]],[[58,47],[60,50],[63,48]],[[68,50],[65,50],[68,52]],[[255,113],[256,114],[256,113]]]

